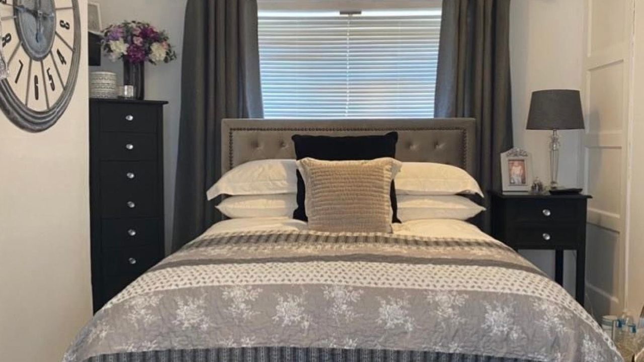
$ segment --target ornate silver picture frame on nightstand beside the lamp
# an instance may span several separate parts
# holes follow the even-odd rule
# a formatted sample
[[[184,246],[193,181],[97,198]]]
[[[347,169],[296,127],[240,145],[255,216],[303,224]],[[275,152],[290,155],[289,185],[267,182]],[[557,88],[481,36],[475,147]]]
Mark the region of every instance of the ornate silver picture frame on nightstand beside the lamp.
[[[513,148],[501,153],[501,179],[504,192],[530,191],[532,159],[524,149]]]

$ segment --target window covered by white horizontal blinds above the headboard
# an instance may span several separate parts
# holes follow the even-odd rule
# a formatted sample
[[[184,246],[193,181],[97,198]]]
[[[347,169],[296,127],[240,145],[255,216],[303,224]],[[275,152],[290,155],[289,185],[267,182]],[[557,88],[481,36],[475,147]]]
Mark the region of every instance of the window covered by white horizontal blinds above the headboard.
[[[264,115],[433,117],[439,34],[439,6],[260,10]]]

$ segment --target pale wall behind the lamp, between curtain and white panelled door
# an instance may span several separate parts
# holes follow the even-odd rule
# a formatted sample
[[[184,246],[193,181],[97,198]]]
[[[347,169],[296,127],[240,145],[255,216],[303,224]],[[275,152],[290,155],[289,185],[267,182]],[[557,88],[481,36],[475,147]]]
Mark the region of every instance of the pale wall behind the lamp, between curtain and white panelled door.
[[[515,146],[532,154],[535,176],[550,181],[548,131],[527,131],[532,91],[582,88],[583,0],[513,1],[510,52]],[[559,182],[580,186],[582,131],[561,131]],[[554,252],[522,251],[554,276]],[[574,293],[574,255],[565,253],[564,285]]]

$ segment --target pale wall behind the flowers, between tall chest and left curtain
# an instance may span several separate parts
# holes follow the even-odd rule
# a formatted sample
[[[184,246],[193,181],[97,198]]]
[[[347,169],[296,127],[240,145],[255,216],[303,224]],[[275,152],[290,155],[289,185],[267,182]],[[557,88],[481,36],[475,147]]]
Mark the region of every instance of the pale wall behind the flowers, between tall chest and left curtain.
[[[181,59],[184,41],[184,15],[187,0],[96,0],[100,4],[103,26],[137,19],[166,30],[170,43],[175,46],[177,59],[169,64],[146,64],[146,99],[167,100],[164,108],[164,183],[166,209],[166,250],[172,235],[175,211],[176,153],[181,111]],[[100,67],[90,71],[114,71],[118,82],[123,81],[123,63],[103,57]]]

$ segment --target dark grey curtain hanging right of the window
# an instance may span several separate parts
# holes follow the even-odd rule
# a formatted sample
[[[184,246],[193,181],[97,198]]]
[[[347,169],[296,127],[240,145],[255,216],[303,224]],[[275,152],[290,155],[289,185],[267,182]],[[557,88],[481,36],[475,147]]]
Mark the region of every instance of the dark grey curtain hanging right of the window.
[[[510,0],[443,1],[434,113],[477,119],[484,191],[500,189],[499,155],[512,147],[509,13]]]

